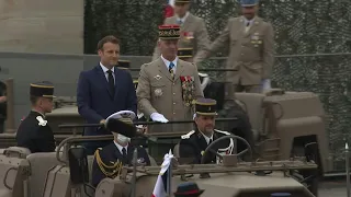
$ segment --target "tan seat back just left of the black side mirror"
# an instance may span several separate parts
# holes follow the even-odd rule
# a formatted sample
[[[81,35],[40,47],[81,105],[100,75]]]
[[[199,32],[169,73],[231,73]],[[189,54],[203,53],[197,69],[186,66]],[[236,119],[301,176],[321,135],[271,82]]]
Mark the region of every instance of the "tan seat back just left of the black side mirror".
[[[38,152],[27,158],[31,167],[29,187],[31,197],[42,196],[47,174],[60,162],[56,159],[56,152]]]

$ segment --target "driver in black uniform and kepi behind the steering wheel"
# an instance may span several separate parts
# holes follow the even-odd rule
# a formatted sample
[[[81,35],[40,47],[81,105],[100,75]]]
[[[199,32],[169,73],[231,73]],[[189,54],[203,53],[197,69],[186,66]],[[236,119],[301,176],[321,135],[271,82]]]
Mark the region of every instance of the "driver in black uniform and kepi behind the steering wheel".
[[[181,136],[179,146],[180,158],[193,159],[191,163],[201,163],[202,155],[206,148],[214,140],[230,135],[227,131],[215,129],[215,117],[217,102],[212,99],[200,99],[195,102],[195,130],[190,131],[186,135]],[[233,139],[224,140],[222,143],[217,143],[213,150],[222,154],[231,154],[234,149]],[[208,152],[205,155],[205,163],[215,163],[217,158],[214,153]]]

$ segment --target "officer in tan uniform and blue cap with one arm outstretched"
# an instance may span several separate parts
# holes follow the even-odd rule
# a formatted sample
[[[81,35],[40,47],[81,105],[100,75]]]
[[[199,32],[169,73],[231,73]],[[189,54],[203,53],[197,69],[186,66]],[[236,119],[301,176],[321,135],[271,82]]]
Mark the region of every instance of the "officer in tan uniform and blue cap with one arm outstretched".
[[[237,71],[226,72],[226,80],[234,84],[236,92],[260,92],[271,86],[273,27],[257,15],[258,0],[240,0],[240,3],[244,15],[229,19],[222,35],[208,50],[199,54],[194,62],[199,63],[229,45],[226,67]]]

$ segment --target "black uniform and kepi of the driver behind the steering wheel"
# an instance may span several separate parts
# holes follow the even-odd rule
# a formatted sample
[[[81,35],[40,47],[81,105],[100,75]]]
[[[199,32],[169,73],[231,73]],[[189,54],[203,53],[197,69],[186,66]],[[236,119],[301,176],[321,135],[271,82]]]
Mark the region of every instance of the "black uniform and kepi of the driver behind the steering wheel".
[[[196,101],[196,114],[204,116],[215,116],[216,113],[216,102],[211,99]],[[181,141],[179,146],[180,158],[193,159],[190,163],[199,164],[201,163],[202,157],[206,148],[216,139],[224,136],[229,136],[230,132],[223,130],[213,130],[212,139],[207,142],[205,136],[197,129],[190,131],[186,135],[181,136]],[[226,139],[222,143],[214,146],[213,150],[222,154],[230,154],[234,148],[234,140]],[[216,163],[217,158],[214,153],[207,152],[205,155],[205,163]]]

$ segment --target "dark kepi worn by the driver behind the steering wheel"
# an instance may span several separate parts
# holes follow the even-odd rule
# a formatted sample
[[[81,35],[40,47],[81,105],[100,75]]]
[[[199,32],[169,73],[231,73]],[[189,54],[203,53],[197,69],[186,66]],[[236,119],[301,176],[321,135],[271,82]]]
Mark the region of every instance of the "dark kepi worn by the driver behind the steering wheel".
[[[195,112],[197,115],[215,116],[217,115],[217,102],[212,99],[199,99],[195,101]]]

